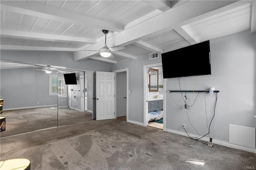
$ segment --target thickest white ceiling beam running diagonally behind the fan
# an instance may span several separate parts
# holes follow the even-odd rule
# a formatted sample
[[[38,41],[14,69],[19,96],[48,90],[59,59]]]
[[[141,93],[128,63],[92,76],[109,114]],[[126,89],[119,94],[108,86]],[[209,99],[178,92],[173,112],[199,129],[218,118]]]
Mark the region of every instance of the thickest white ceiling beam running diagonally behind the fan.
[[[217,12],[225,11],[228,8],[233,8],[232,4],[234,2],[236,3],[236,1],[188,1],[176,8],[172,8],[172,10],[168,10],[139,23],[138,25],[108,37],[107,45],[108,47],[125,46],[130,43],[135,43],[136,41],[143,41],[145,38],[209,17]],[[239,1],[238,3],[239,4],[236,4],[236,6],[243,3],[245,4],[246,2]],[[90,49],[100,49],[103,46],[104,42],[102,41],[90,46]],[[75,61],[86,59],[88,56],[93,55],[92,53],[83,53],[83,55],[79,55],[79,53],[80,52],[74,55]]]

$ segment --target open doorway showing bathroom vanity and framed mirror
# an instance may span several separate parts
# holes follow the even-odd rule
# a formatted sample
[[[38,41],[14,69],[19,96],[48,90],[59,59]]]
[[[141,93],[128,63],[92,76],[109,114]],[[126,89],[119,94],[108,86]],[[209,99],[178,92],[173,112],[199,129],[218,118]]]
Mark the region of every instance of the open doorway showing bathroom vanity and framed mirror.
[[[162,63],[144,66],[144,126],[165,129],[164,91]]]

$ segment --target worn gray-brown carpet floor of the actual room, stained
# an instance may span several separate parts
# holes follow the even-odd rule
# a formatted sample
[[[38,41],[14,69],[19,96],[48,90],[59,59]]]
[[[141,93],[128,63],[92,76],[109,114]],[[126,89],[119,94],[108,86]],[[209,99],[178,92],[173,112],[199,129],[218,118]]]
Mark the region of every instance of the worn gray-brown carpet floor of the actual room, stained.
[[[32,170],[243,170],[256,154],[125,119],[87,121],[0,139],[0,159],[28,158]]]

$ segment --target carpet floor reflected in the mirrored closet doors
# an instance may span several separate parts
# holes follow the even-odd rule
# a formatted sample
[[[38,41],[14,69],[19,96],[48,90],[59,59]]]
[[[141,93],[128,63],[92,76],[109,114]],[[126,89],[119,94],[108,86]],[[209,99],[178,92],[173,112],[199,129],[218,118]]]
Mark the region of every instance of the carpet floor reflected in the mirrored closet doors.
[[[6,137],[49,127],[90,121],[92,113],[68,108],[39,107],[3,111],[1,117],[6,117],[6,130],[1,132],[1,137]]]

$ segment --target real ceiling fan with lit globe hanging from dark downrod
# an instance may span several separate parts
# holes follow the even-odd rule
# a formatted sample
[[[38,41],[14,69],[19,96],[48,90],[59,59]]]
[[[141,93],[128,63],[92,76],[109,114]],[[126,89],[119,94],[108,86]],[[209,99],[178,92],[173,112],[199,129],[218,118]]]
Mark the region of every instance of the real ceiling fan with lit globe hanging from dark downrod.
[[[108,46],[106,44],[108,30],[102,29],[102,32],[105,34],[105,44],[100,50],[79,50],[79,51],[99,51],[100,55],[102,57],[114,58],[114,55],[111,53],[112,51],[118,51],[118,50],[125,49],[125,47],[123,47],[123,46],[116,46],[116,47],[108,48]]]

